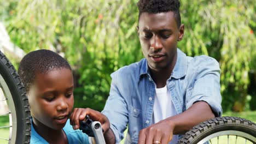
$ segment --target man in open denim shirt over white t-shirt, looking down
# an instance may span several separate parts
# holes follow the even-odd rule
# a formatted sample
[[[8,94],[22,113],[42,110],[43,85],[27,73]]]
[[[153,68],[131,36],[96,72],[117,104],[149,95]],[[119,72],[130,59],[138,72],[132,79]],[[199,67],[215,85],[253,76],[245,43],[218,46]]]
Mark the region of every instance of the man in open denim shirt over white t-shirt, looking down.
[[[102,111],[110,129],[103,123],[104,137],[118,143],[128,125],[125,143],[177,143],[194,125],[221,115],[219,64],[207,56],[188,57],[177,48],[184,35],[178,0],[140,0],[138,8],[137,33],[145,58],[111,75]]]

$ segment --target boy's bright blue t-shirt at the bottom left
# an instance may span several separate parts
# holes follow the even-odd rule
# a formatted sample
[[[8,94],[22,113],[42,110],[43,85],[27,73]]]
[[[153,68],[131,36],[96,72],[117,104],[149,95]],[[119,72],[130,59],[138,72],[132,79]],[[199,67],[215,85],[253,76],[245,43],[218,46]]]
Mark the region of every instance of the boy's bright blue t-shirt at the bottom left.
[[[69,119],[63,128],[64,132],[67,135],[68,143],[85,143],[89,144],[89,137],[85,133],[83,133],[81,130],[77,129],[74,130],[72,126],[69,124]],[[45,144],[48,142],[44,140],[42,136],[40,136],[36,130],[34,130],[33,124],[31,124],[31,138],[30,138],[30,143],[36,143],[36,144]]]

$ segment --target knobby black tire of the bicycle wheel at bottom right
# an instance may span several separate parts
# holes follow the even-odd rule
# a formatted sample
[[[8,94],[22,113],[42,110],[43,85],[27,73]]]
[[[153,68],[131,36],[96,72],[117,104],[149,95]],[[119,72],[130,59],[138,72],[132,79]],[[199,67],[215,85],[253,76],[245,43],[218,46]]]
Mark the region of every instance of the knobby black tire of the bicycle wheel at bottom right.
[[[193,141],[202,136],[206,132],[211,131],[212,129],[220,128],[219,131],[222,131],[224,125],[241,125],[242,127],[248,129],[247,132],[256,137],[256,124],[240,117],[216,117],[208,121],[202,122],[196,125],[193,129],[189,130],[185,135],[178,141],[178,143],[193,143]],[[224,127],[223,127],[224,128]]]

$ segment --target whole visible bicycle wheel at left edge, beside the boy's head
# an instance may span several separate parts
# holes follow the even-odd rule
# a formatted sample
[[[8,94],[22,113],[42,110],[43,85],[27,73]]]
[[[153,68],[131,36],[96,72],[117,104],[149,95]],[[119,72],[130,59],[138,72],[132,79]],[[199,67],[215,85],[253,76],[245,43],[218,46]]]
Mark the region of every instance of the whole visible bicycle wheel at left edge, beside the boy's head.
[[[13,65],[1,51],[0,102],[2,107],[7,105],[5,112],[1,111],[0,118],[5,121],[9,118],[9,122],[0,125],[0,130],[3,131],[0,140],[6,143],[30,143],[31,115],[26,91]]]

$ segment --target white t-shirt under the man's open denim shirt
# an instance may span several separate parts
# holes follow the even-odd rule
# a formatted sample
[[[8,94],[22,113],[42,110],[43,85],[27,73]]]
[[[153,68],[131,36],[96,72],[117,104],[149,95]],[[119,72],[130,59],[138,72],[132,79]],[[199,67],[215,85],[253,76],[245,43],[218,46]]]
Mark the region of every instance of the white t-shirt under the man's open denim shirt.
[[[158,123],[162,119],[177,115],[176,109],[172,102],[170,91],[167,87],[155,88],[155,100],[153,108],[153,123]],[[178,135],[173,135],[172,141],[168,144],[176,144]]]

